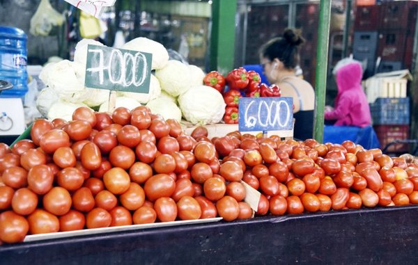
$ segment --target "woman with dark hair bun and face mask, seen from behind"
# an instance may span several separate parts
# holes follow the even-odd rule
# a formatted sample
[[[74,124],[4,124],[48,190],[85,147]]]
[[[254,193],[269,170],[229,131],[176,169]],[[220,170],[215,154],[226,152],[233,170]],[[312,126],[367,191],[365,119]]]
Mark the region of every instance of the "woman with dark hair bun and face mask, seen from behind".
[[[260,61],[268,81],[279,86],[282,97],[293,97],[293,135],[299,140],[312,138],[314,130],[314,88],[296,76],[303,43],[298,31],[285,29],[281,37],[269,40],[260,49]]]

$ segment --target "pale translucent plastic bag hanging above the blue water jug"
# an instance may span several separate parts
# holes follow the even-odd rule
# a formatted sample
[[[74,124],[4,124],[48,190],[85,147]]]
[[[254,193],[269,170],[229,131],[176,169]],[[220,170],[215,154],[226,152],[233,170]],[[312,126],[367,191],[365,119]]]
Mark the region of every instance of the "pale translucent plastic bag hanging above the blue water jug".
[[[47,36],[54,26],[61,26],[64,17],[52,8],[49,0],[41,0],[35,15],[31,18],[31,34]]]

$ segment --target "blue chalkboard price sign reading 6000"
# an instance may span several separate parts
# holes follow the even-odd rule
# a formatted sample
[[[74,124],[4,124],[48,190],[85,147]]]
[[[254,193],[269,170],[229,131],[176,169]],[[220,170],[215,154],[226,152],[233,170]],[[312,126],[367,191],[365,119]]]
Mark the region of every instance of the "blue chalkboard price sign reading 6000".
[[[292,97],[241,97],[240,131],[279,131],[293,129]]]

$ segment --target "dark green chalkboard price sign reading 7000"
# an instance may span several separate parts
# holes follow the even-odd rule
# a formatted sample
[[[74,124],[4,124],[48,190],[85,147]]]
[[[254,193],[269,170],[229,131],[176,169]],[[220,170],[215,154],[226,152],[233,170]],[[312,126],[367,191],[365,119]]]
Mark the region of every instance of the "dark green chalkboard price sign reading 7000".
[[[149,93],[152,54],[88,45],[86,87]]]

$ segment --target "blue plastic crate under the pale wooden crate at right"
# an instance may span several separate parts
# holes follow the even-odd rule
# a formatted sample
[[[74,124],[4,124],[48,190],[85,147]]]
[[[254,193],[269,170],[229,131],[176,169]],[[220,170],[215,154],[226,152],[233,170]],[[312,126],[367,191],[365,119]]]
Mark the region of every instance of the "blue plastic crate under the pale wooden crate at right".
[[[373,125],[409,125],[409,97],[378,98],[370,104],[370,112]]]

